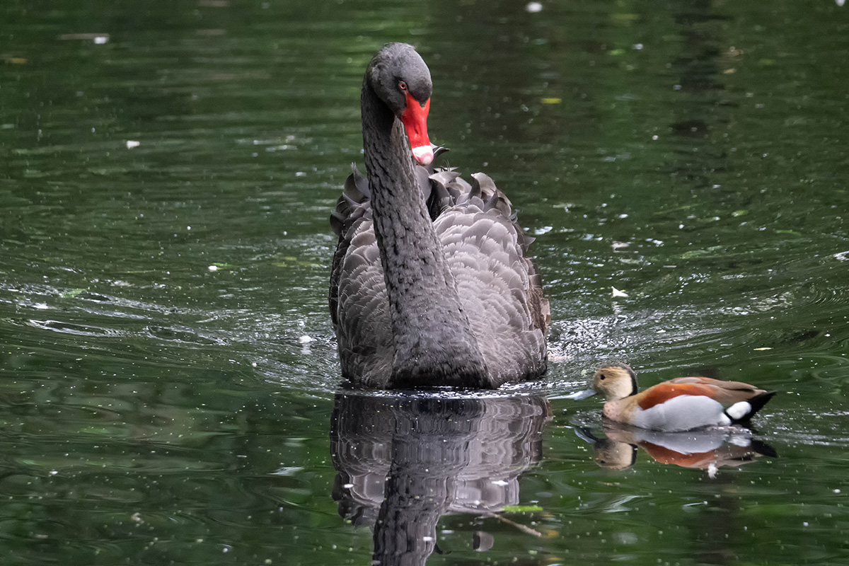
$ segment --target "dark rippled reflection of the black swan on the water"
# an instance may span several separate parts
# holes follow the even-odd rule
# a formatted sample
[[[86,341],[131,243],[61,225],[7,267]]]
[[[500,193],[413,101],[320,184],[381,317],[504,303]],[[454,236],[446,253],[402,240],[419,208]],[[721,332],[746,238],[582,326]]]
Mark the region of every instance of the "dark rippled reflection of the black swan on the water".
[[[519,503],[519,476],[543,457],[541,397],[336,395],[330,428],[340,515],[374,528],[376,564],[424,564],[449,513]],[[475,548],[492,541],[476,535]]]

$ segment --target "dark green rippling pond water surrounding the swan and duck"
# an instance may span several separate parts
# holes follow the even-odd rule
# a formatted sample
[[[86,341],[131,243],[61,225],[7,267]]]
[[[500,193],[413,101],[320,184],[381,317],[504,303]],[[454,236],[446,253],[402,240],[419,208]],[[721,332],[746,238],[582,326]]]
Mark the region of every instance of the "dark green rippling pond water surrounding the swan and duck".
[[[543,382],[340,394],[327,217],[386,41],[537,236]],[[847,61],[829,0],[3,3],[3,563],[846,563]],[[563,398],[611,359],[778,390],[769,449],[623,468]]]

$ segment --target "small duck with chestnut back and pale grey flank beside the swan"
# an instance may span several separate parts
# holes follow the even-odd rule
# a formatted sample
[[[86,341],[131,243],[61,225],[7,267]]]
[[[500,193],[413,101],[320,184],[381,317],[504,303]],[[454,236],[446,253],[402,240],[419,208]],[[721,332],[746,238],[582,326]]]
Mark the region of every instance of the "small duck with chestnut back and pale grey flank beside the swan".
[[[604,417],[666,432],[745,423],[773,398],[775,391],[739,381],[675,378],[640,391],[637,374],[625,363],[599,367],[593,387],[573,398],[604,394]]]

